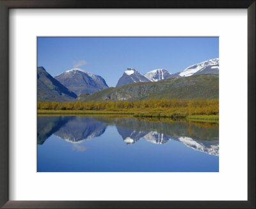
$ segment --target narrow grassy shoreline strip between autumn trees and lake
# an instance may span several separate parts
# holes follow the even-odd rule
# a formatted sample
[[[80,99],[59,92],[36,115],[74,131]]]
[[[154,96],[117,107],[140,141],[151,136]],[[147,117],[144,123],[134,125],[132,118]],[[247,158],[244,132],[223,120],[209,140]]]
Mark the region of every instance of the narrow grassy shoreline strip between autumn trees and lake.
[[[188,115],[178,112],[124,112],[106,110],[38,110],[38,115],[130,115],[133,117],[159,117],[171,119],[186,119],[195,122],[218,122],[219,115]]]

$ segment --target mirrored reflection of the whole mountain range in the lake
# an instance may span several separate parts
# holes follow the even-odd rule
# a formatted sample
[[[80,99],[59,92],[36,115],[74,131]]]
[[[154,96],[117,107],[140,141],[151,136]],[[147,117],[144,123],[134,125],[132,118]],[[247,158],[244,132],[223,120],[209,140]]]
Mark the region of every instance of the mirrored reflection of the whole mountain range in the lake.
[[[145,140],[164,145],[174,140],[189,148],[211,155],[219,155],[218,124],[173,122],[154,119],[122,117],[38,117],[37,143],[42,145],[54,134],[73,143],[72,150],[84,152],[87,147],[77,145],[102,135],[108,126],[115,126],[127,145]],[[76,145],[75,145],[76,144]]]

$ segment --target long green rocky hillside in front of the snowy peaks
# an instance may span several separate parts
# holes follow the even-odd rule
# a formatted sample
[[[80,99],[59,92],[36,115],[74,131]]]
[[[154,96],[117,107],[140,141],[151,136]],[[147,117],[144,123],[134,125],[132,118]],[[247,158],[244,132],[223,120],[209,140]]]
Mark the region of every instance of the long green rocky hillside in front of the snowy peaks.
[[[137,101],[147,99],[216,99],[219,75],[169,78],[159,82],[132,83],[117,88],[81,94],[79,101]]]

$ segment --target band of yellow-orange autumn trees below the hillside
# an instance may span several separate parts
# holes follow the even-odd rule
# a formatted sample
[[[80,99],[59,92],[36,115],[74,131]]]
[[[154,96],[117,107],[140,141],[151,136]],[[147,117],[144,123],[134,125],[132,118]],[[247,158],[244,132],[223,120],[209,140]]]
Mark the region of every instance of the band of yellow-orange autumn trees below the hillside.
[[[38,110],[171,110],[179,109],[190,114],[218,115],[219,99],[149,99],[147,101],[89,101],[89,102],[40,102],[37,103]]]

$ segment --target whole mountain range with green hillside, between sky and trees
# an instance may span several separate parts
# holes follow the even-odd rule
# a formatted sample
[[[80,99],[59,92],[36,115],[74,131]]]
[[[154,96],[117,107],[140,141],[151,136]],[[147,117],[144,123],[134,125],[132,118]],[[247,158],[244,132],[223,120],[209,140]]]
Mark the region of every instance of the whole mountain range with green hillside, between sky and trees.
[[[116,87],[109,88],[104,78],[83,69],[70,69],[53,78],[38,67],[38,101],[73,101],[77,96],[80,101],[217,98],[218,74],[218,58],[173,74],[166,69],[154,69],[142,75],[127,68]]]

